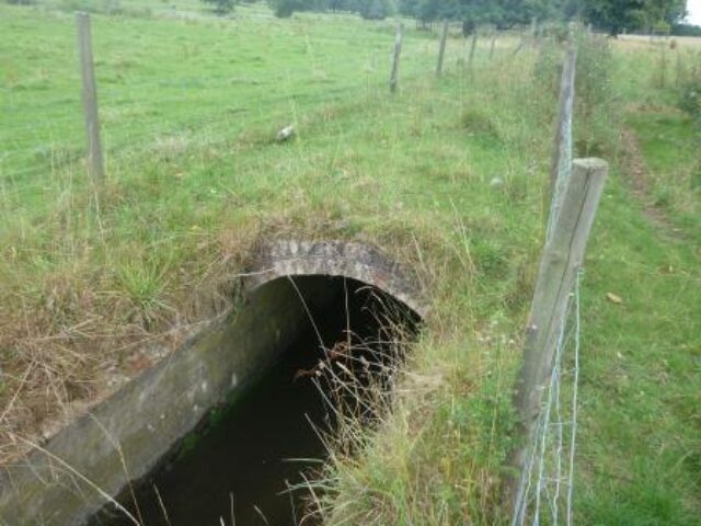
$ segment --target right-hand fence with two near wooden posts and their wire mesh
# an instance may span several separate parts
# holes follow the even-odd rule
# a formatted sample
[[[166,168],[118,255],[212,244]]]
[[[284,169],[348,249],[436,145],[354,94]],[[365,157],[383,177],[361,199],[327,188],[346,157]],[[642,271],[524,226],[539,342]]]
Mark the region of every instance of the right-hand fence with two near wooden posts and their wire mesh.
[[[513,448],[507,461],[510,474],[504,504],[512,513],[512,526],[558,525],[562,521],[572,525],[582,264],[608,175],[608,165],[601,160],[572,161],[576,58],[572,46],[562,67],[545,244],[514,397],[521,443]],[[573,357],[566,354],[571,346]],[[573,362],[571,368],[568,361]],[[568,405],[563,407],[566,382],[571,397]]]

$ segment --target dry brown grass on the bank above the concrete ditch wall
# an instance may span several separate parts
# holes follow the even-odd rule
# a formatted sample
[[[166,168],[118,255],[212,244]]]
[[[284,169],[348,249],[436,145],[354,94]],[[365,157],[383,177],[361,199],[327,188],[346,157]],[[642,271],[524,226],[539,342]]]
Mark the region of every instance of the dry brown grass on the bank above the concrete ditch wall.
[[[169,275],[152,305],[118,276],[91,279],[97,270],[85,267],[34,276],[33,290],[20,283],[3,289],[0,464],[26,449],[15,433],[44,443],[228,309],[255,244],[251,227],[202,236],[197,258]]]

